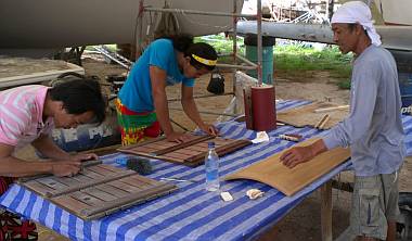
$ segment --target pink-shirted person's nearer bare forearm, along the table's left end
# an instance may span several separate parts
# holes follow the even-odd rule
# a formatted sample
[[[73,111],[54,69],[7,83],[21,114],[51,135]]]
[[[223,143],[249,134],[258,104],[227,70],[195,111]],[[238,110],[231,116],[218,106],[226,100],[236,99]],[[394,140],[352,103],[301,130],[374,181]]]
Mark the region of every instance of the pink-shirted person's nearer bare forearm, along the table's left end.
[[[0,143],[0,176],[26,177],[39,174],[53,174],[59,177],[72,176],[80,170],[79,161],[40,162],[23,161],[12,155],[14,147]]]

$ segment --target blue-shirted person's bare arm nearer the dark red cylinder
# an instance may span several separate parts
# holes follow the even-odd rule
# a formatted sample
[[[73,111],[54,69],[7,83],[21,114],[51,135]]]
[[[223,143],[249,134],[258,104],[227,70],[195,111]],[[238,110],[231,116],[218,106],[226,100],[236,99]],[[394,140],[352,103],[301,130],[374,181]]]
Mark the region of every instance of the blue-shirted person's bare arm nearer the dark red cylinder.
[[[183,111],[190,119],[192,119],[198,128],[209,135],[216,136],[218,130],[215,126],[206,124],[202,120],[201,114],[197,111],[196,102],[193,99],[193,87],[182,85],[182,100]]]

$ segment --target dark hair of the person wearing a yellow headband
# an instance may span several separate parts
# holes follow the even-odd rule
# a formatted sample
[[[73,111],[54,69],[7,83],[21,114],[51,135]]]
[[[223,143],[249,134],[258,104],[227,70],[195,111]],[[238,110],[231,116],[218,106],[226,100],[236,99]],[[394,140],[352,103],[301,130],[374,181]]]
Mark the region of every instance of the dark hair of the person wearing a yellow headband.
[[[193,36],[190,35],[176,35],[164,37],[171,39],[173,43],[173,48],[179,52],[182,52],[184,56],[190,56],[190,64],[196,69],[206,68],[208,71],[213,71],[215,65],[206,65],[198,61],[196,61],[192,54],[199,56],[202,59],[206,59],[209,61],[216,61],[218,59],[218,54],[216,50],[210,45],[205,42],[193,42]]]

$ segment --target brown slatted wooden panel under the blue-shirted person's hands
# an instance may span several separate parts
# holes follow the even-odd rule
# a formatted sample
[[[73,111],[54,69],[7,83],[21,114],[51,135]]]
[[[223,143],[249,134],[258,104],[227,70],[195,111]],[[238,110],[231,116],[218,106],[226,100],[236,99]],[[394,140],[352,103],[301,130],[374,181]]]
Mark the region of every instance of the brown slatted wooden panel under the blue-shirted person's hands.
[[[190,136],[183,143],[157,138],[146,142],[119,148],[118,151],[164,160],[167,162],[197,166],[204,162],[207,153],[207,142],[214,141],[219,156],[242,149],[252,142],[249,140],[233,140],[213,136]]]

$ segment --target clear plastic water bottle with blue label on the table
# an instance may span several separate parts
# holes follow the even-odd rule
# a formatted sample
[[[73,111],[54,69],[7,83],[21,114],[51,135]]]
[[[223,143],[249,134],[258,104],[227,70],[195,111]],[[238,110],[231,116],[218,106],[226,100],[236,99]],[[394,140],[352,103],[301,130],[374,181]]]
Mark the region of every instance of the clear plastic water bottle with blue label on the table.
[[[215,142],[210,141],[207,143],[209,151],[205,157],[205,168],[206,168],[206,190],[207,191],[218,191],[220,188],[219,183],[219,156],[215,151]]]

